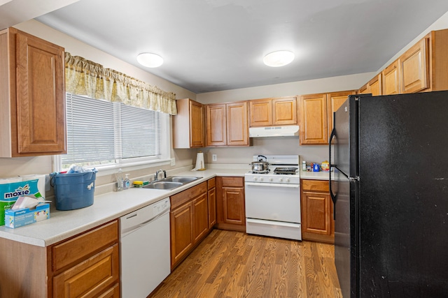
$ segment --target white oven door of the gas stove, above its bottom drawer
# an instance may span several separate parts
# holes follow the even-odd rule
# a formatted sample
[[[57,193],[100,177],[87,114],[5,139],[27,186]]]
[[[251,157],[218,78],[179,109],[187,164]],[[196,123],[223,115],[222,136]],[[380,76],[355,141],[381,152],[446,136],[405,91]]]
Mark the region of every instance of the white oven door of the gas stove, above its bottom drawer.
[[[246,217],[300,223],[300,185],[246,182]]]

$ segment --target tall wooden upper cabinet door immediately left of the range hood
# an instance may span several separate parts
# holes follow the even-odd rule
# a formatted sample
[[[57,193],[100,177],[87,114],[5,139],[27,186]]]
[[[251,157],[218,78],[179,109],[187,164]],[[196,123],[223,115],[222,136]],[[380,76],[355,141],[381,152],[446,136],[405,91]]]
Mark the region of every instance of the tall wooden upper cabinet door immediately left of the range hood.
[[[227,144],[228,146],[248,146],[247,102],[227,104]]]

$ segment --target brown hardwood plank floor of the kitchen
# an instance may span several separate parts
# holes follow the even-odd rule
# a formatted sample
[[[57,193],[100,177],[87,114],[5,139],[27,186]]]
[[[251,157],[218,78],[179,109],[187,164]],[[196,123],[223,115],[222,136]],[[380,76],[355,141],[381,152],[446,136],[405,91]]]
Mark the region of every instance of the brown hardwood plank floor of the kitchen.
[[[342,297],[331,244],[213,230],[150,296]]]

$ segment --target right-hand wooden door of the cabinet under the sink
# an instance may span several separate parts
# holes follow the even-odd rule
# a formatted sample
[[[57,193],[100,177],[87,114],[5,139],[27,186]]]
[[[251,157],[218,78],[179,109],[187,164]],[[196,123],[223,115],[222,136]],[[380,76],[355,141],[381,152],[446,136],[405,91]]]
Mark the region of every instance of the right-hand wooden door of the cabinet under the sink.
[[[207,202],[207,193],[192,201],[193,244],[197,244],[209,232],[209,204]]]

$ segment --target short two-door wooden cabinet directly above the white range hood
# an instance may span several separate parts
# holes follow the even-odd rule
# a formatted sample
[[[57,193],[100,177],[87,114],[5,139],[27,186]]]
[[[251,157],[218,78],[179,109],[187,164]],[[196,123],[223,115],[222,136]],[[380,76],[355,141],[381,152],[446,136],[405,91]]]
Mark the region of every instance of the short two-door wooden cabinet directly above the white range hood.
[[[250,126],[297,124],[297,98],[263,98],[249,100]]]

